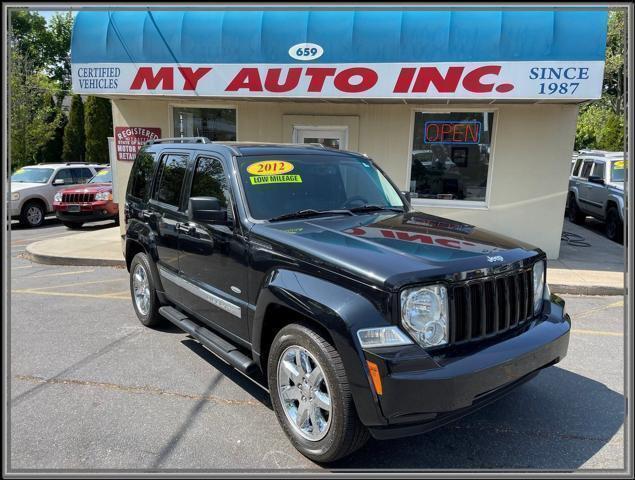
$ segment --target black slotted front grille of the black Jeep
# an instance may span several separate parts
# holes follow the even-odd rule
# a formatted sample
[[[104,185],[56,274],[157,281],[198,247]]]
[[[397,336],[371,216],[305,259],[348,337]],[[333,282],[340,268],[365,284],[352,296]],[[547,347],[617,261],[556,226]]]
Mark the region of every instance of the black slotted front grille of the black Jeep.
[[[471,280],[451,289],[450,343],[481,340],[533,317],[531,269]]]

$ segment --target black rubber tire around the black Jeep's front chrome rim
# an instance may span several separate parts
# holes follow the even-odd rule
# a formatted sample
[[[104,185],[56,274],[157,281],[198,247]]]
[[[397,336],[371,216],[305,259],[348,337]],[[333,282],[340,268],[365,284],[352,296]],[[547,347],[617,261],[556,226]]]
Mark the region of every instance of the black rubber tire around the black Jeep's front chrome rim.
[[[295,430],[278,393],[278,362],[285,350],[292,346],[306,349],[317,359],[329,386],[331,423],[326,436],[320,440],[306,439]],[[342,359],[335,347],[315,330],[300,324],[290,324],[280,330],[269,351],[267,376],[278,421],[293,446],[304,456],[320,463],[333,462],[350,455],[368,440],[368,430],[360,422],[353,405]]]

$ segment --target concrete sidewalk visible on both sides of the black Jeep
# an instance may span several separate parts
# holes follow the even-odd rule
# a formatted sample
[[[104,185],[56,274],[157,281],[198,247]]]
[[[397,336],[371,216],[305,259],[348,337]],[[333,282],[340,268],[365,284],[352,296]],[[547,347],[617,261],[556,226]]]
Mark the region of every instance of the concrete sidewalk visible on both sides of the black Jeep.
[[[624,249],[589,228],[565,220],[564,230],[584,237],[590,247],[562,242],[560,258],[549,260],[547,282],[554,293],[624,294]],[[124,266],[119,227],[31,243],[31,260],[56,265]]]

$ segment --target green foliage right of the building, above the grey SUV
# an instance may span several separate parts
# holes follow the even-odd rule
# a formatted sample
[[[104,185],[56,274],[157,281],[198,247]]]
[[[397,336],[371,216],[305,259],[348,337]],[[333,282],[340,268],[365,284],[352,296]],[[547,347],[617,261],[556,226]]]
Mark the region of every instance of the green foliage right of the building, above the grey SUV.
[[[624,17],[609,12],[602,98],[580,108],[576,150],[624,150]]]

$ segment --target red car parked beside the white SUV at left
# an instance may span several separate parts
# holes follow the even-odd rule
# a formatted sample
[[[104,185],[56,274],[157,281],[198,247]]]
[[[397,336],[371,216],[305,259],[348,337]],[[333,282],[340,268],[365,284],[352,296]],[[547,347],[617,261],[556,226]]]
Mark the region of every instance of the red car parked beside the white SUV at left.
[[[68,228],[80,228],[86,222],[112,219],[119,223],[119,205],[112,201],[112,172],[104,168],[88,183],[55,194],[53,210]]]

